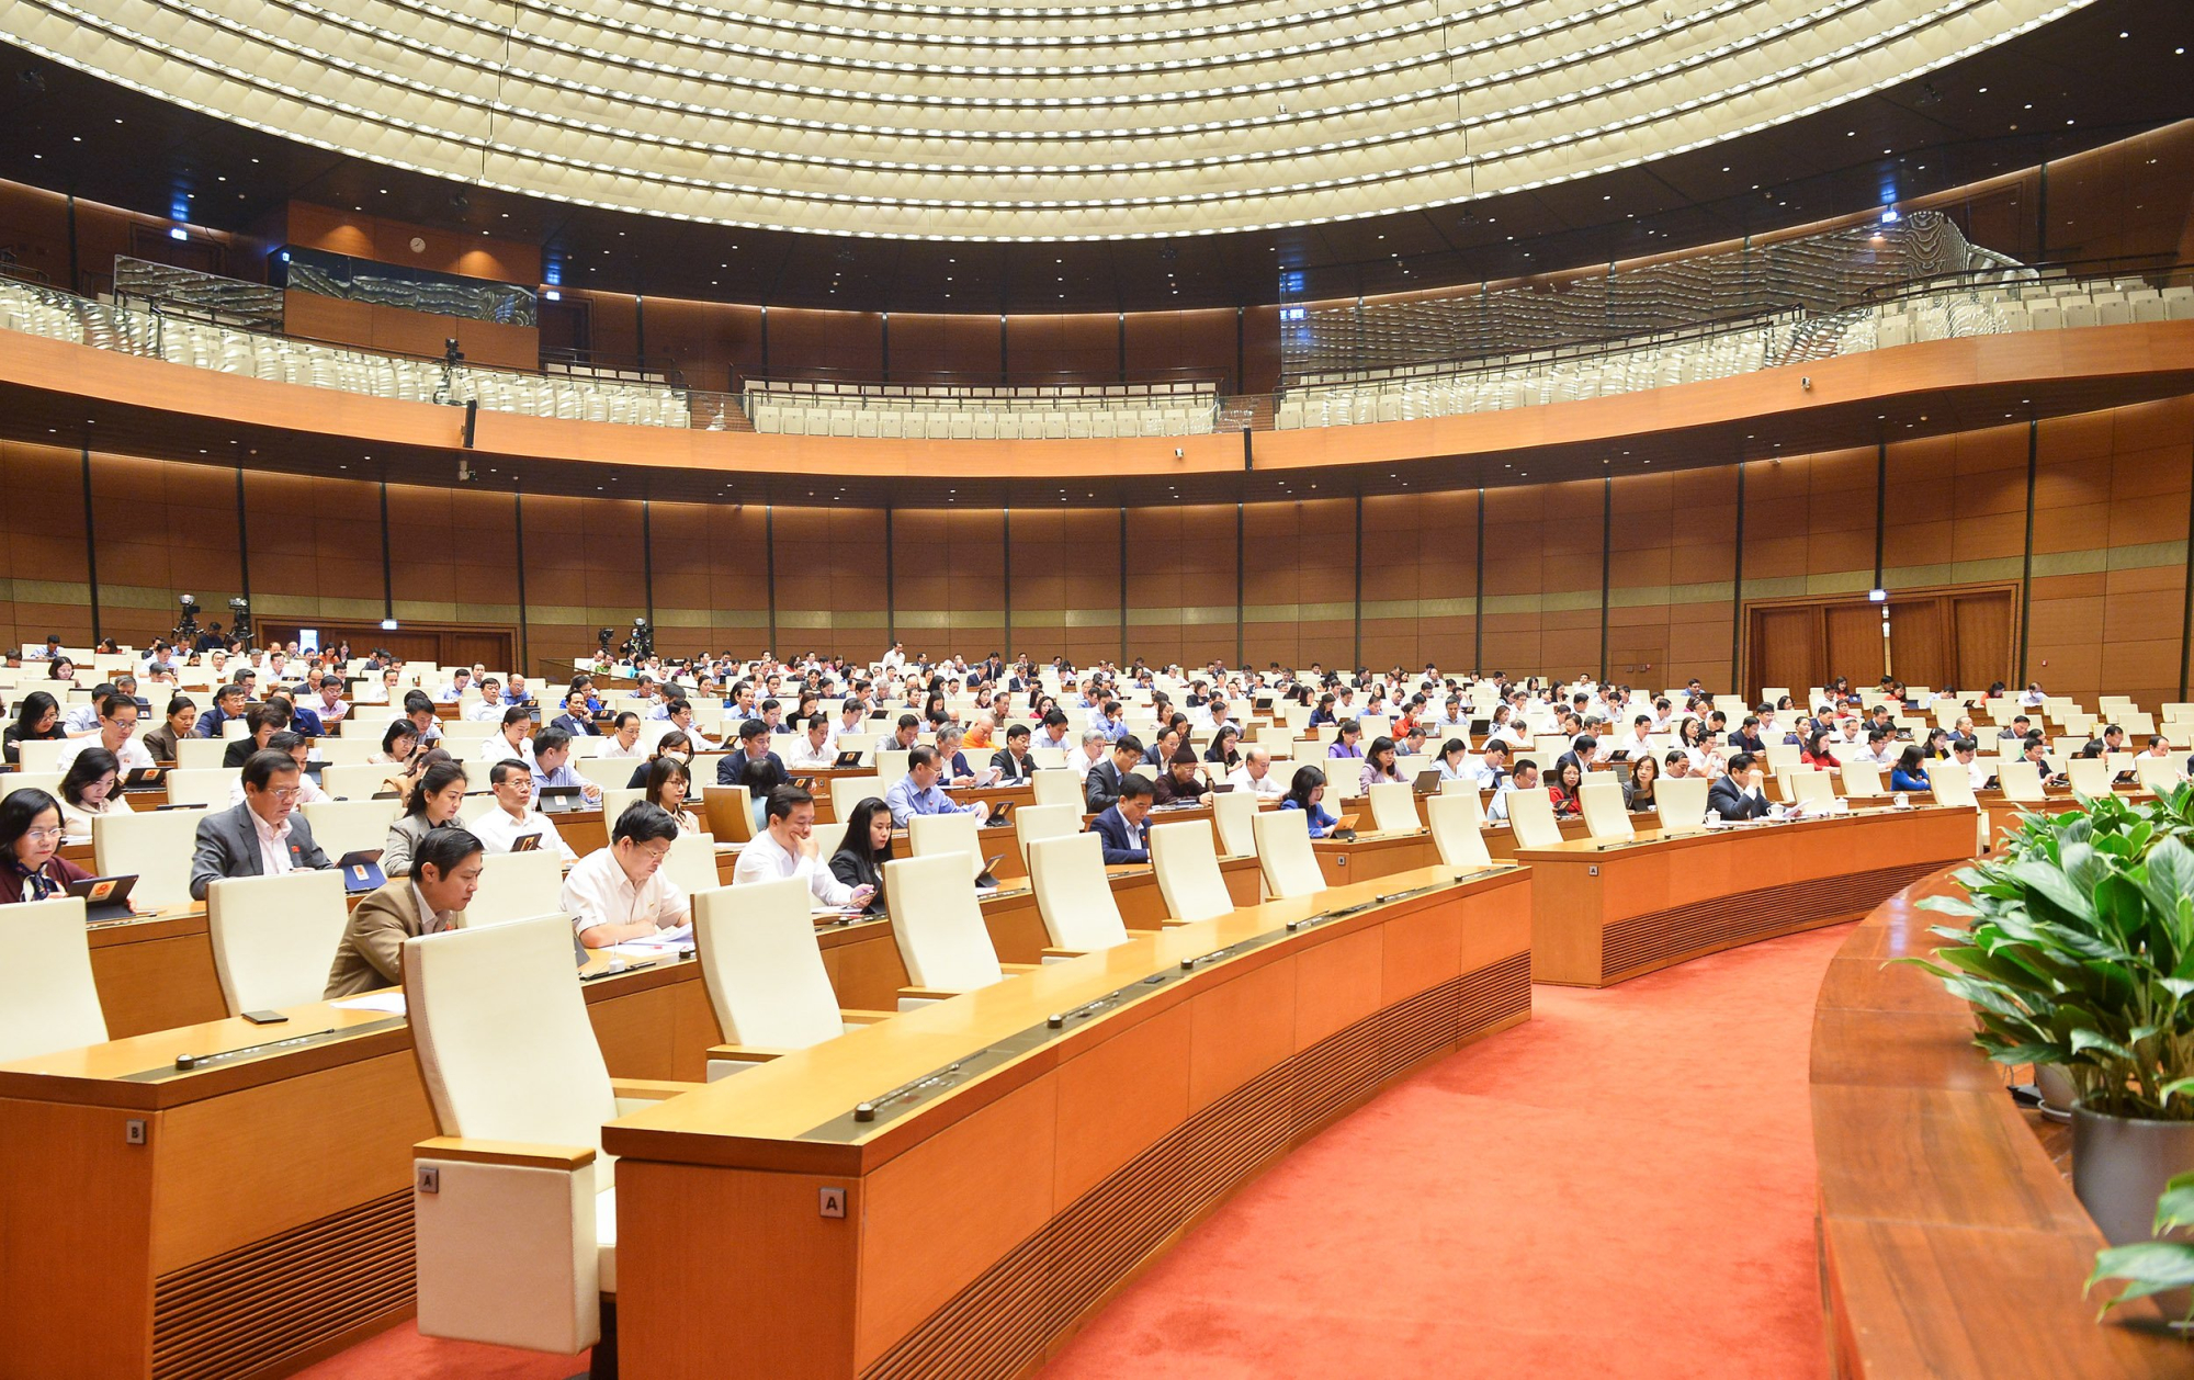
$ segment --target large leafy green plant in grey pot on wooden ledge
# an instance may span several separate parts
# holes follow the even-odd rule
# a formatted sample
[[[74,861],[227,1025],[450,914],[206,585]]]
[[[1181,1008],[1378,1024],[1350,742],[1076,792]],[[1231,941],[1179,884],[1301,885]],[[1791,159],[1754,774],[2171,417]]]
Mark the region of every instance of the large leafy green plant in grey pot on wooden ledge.
[[[1999,1064],[2071,1077],[2073,1189],[2113,1246],[2148,1237],[2194,1167],[2194,788],[2025,816],[2005,853],[1929,910],[1966,928],[1918,963],[1972,1003]]]

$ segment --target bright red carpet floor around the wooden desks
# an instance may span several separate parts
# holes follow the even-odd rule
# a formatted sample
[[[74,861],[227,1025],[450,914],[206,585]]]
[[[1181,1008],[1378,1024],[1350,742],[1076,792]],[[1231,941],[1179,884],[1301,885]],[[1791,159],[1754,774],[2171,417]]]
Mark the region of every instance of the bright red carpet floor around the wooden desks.
[[[1044,1380],[1825,1376],[1806,1047],[1843,935],[1538,987],[1251,1183]],[[305,1376],[584,1369],[406,1325]]]

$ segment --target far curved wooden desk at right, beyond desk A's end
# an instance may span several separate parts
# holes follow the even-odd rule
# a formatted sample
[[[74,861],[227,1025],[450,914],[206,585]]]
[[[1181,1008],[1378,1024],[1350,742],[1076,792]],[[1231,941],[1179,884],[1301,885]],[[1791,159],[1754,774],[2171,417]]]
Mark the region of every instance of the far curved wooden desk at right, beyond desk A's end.
[[[1841,924],[1972,847],[1972,810],[1926,807],[1516,849],[1536,873],[1531,979],[1604,987]]]

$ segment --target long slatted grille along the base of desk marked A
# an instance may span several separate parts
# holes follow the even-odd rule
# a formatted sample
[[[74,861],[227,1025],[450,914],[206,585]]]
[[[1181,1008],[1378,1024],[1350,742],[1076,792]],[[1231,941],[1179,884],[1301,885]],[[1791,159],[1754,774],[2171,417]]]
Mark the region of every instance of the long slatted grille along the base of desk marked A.
[[[862,1380],[1007,1380],[1198,1213],[1402,1071],[1531,1011],[1531,954],[1367,1016],[1196,1112],[886,1351]]]

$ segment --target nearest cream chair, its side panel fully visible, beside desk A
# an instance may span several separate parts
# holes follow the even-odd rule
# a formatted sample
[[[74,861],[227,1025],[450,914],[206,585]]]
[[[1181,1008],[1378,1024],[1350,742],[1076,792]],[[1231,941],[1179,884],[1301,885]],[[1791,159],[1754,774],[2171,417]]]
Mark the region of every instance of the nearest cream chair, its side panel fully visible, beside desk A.
[[[408,939],[404,998],[441,1130],[412,1147],[419,1332],[562,1356],[603,1341],[617,1167],[601,1123],[660,1093],[610,1082],[570,924]]]

